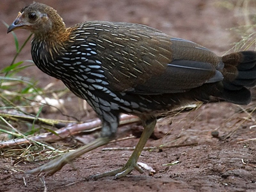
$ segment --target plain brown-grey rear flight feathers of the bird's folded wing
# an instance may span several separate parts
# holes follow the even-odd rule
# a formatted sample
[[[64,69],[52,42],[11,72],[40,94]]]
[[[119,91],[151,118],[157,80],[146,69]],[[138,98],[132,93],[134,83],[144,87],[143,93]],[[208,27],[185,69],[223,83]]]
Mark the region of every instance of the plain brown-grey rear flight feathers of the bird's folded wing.
[[[164,63],[161,74],[137,84],[132,91],[140,94],[185,92],[205,83],[223,80],[218,69],[223,63],[210,50],[193,42],[171,38],[172,61]],[[160,53],[161,54],[161,53]]]

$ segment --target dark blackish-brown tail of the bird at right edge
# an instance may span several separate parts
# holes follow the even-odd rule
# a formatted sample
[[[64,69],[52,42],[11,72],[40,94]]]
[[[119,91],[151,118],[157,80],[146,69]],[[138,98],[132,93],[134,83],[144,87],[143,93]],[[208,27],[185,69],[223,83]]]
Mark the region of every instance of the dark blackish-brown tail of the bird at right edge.
[[[221,99],[239,105],[251,101],[251,92],[247,89],[256,84],[256,52],[242,51],[222,57],[224,79]]]

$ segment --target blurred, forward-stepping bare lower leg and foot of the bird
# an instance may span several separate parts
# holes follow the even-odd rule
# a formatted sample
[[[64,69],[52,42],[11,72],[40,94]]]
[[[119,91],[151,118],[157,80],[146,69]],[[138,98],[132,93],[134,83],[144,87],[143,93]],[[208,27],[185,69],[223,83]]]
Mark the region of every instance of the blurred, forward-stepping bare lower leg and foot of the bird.
[[[73,165],[73,160],[76,157],[79,157],[79,156],[83,155],[84,153],[91,151],[92,149],[95,149],[102,145],[105,145],[111,140],[112,140],[112,138],[110,138],[110,137],[100,137],[100,138],[92,141],[91,143],[76,149],[75,151],[69,152],[57,159],[53,159],[52,161],[50,161],[40,167],[37,167],[35,169],[28,171],[27,173],[34,174],[34,173],[40,173],[43,171],[49,171],[49,174],[54,174],[55,172],[59,171],[67,163]]]

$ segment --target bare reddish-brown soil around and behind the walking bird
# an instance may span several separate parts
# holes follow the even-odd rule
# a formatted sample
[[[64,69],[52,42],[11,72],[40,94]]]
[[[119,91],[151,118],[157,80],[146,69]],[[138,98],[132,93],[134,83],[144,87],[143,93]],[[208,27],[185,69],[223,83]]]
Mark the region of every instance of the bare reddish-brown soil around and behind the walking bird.
[[[10,24],[17,12],[32,1],[2,0],[0,17]],[[111,20],[137,22],[158,28],[175,37],[189,39],[202,44],[221,55],[228,51],[232,42],[239,40],[229,28],[243,23],[239,14],[239,1],[217,0],[77,0],[77,1],[40,1],[58,10],[67,26],[85,20]],[[225,3],[225,4],[224,4]],[[27,31],[16,32],[22,41]],[[14,56],[12,36],[6,34],[6,28],[0,28],[1,68],[10,64]],[[29,45],[18,60],[30,59]],[[50,82],[56,86],[62,84],[44,75],[36,67],[23,71],[39,81],[44,87]],[[67,99],[67,98],[64,98]],[[81,100],[69,95],[65,104],[66,114],[79,120],[95,118],[89,109],[89,115],[79,105]],[[255,107],[255,102],[251,108]],[[43,117],[63,118],[60,113],[44,113]],[[45,162],[20,162],[13,166],[15,159],[0,156],[0,191],[256,191],[256,142],[246,141],[255,138],[255,114],[241,112],[241,108],[229,103],[210,103],[201,108],[164,119],[157,125],[157,132],[168,133],[158,140],[148,140],[147,147],[165,147],[143,151],[139,161],[152,166],[156,174],[140,174],[133,171],[119,180],[102,178],[87,181],[89,175],[121,167],[129,158],[130,150],[102,151],[104,147],[133,147],[138,139],[111,143],[93,150],[75,160],[76,171],[70,165],[53,176],[45,173],[25,175],[22,171]],[[170,121],[172,124],[170,125]],[[131,134],[130,127],[119,128],[118,134]],[[128,130],[128,132],[127,132]],[[212,131],[219,132],[219,138]],[[174,165],[169,164],[179,161]],[[22,170],[22,171],[17,171]],[[26,182],[26,185],[25,185]]]

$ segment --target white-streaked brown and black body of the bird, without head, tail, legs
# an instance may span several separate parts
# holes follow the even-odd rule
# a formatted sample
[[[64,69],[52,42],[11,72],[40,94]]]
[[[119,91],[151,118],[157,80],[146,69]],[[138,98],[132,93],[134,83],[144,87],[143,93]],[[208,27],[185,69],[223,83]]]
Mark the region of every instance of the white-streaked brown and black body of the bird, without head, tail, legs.
[[[96,111],[153,113],[211,96],[226,99],[224,63],[198,44],[133,23],[84,22],[69,31],[51,52],[47,41],[33,40],[33,60]]]

